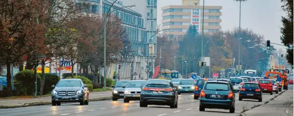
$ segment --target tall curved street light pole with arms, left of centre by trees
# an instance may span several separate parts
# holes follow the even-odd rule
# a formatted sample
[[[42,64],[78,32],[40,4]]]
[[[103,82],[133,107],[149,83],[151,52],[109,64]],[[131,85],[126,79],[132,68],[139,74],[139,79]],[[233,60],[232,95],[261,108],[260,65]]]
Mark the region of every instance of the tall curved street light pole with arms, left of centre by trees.
[[[103,90],[106,91],[106,77],[107,77],[107,74],[106,74],[106,24],[107,24],[107,17],[109,14],[111,14],[112,12],[118,10],[118,9],[121,9],[121,8],[125,8],[125,7],[135,7],[136,5],[129,5],[129,6],[123,6],[123,7],[120,7],[120,8],[117,8],[117,9],[114,9],[113,11],[110,12],[111,10],[111,7],[113,6],[113,4],[116,2],[117,0],[115,0],[111,6],[108,8],[108,11],[107,13],[105,14],[105,18],[104,18],[104,61],[103,61],[103,67],[104,67],[104,88]]]

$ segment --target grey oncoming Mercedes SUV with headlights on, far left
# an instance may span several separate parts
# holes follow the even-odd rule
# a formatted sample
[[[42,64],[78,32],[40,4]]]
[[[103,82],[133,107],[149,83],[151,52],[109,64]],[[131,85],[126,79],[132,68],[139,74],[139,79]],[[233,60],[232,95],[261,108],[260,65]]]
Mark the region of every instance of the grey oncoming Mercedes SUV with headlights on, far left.
[[[51,92],[52,106],[60,106],[61,102],[80,102],[89,104],[89,90],[81,79],[62,79]]]

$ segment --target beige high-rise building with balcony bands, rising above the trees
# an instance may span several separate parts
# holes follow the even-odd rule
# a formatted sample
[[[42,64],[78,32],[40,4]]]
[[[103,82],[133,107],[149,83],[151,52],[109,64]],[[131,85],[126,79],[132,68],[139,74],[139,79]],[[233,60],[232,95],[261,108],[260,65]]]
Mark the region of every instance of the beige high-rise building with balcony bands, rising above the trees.
[[[168,5],[162,7],[162,29],[169,34],[169,38],[177,38],[186,33],[190,25],[196,25],[199,32],[202,32],[202,0],[182,0],[182,5]],[[219,31],[222,27],[221,20],[222,6],[204,6],[205,33]]]

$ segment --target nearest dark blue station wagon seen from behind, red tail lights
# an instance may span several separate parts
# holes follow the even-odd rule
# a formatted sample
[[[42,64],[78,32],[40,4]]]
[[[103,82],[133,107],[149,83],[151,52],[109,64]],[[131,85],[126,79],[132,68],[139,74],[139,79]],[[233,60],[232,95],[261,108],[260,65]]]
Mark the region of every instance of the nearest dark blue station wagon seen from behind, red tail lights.
[[[231,84],[223,81],[208,81],[200,92],[199,111],[225,109],[235,112],[235,93]]]

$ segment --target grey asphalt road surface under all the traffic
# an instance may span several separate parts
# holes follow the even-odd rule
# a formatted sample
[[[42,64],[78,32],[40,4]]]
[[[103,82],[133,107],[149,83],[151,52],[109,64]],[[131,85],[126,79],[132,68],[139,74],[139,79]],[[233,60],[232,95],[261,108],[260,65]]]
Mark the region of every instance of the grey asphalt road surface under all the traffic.
[[[289,89],[293,85],[289,86]],[[170,109],[169,106],[148,105],[147,108],[140,108],[139,101],[124,103],[123,99],[118,101],[96,101],[89,102],[89,105],[80,106],[79,103],[62,104],[61,106],[33,106],[24,108],[0,109],[0,116],[236,116],[245,109],[264,104],[275,95],[263,93],[262,102],[258,100],[238,101],[236,96],[235,113],[230,114],[229,110],[205,109],[199,112],[199,100],[194,100],[193,94],[179,95],[178,108]]]

